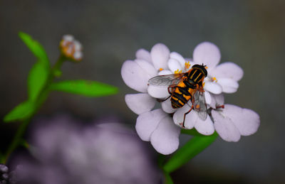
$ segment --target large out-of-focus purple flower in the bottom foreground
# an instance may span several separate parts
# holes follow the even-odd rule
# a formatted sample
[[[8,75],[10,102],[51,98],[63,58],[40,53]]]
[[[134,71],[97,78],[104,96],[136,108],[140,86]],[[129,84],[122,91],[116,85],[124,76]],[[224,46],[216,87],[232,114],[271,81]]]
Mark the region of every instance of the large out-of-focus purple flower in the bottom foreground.
[[[160,172],[138,136],[118,123],[82,126],[70,117],[37,122],[19,159],[23,183],[159,183]]]

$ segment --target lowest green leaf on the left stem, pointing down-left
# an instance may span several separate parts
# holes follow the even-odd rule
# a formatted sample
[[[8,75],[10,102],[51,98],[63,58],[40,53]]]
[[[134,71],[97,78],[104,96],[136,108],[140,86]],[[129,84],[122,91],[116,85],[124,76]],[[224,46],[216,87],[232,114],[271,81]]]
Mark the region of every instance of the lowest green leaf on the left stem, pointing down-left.
[[[12,109],[11,112],[9,112],[9,114],[7,114],[4,117],[4,121],[9,122],[9,121],[26,119],[30,117],[35,110],[36,107],[34,106],[33,102],[30,101],[22,102],[14,109]]]

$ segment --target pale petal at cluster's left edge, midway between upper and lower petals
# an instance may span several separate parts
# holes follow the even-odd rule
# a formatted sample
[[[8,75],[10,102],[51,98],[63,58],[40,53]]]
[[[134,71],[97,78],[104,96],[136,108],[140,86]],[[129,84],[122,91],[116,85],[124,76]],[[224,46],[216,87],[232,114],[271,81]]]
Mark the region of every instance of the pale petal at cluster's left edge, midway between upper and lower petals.
[[[155,107],[156,100],[147,93],[126,94],[125,103],[136,114],[149,112]]]

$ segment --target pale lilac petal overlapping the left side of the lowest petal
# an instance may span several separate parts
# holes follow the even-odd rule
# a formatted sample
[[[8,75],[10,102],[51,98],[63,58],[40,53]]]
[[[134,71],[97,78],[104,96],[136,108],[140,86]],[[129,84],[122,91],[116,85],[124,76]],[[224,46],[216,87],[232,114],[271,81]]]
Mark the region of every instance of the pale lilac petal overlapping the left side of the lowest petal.
[[[140,114],[135,124],[135,129],[140,139],[142,141],[150,141],[150,135],[164,117],[167,117],[167,114],[162,109],[155,109],[151,112]]]

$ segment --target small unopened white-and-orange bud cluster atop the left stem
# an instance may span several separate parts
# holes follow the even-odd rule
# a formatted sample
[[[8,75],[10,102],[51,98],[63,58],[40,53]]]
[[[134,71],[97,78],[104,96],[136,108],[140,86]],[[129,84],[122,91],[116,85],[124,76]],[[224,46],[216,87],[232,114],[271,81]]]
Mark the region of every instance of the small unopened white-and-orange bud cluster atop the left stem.
[[[75,40],[73,36],[63,36],[59,48],[61,49],[61,53],[69,60],[76,62],[82,60],[82,45],[78,40]]]

